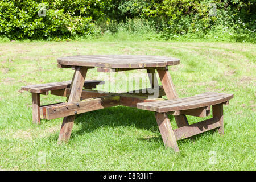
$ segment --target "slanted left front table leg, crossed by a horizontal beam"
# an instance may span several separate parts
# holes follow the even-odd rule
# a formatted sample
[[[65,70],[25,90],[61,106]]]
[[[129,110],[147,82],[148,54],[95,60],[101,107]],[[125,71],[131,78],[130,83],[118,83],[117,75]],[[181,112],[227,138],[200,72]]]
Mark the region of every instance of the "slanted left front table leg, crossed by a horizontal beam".
[[[82,88],[84,86],[85,76],[87,73],[86,67],[76,67],[75,73],[71,85],[71,93],[69,94],[68,104],[80,101]],[[75,115],[71,115],[63,118],[63,123],[60,129],[59,143],[67,142],[70,138],[73,123],[75,121]]]

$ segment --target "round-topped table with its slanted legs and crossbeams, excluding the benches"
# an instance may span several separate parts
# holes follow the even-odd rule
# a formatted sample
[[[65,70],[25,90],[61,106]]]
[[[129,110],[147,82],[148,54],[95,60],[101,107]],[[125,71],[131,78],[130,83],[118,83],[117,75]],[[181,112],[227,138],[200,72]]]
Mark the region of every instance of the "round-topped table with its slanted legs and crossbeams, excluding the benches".
[[[92,92],[88,90],[85,90],[86,93],[83,93],[82,88],[88,69],[97,68],[98,72],[119,72],[133,69],[147,69],[148,77],[153,89],[160,88],[155,77],[155,73],[158,72],[164,94],[166,94],[168,100],[174,100],[178,96],[172,82],[171,75],[168,72],[168,66],[177,65],[179,63],[180,60],[173,57],[148,55],[79,55],[60,57],[57,59],[58,67],[72,67],[75,69],[75,73],[72,78],[69,92],[66,90],[68,100],[67,104],[48,110],[49,115],[52,113],[52,118],[67,115],[63,118],[59,142],[67,141],[70,138],[73,122],[75,120],[74,110],[75,114],[79,114],[85,113],[86,111],[120,105],[120,102],[121,105],[136,106],[138,102],[152,101],[152,99],[150,100],[143,97],[143,94],[131,94],[130,96],[128,94],[123,94],[121,98],[117,98],[113,93],[97,95],[97,93],[94,92],[93,95]],[[97,97],[103,97],[95,98],[96,95]],[[93,96],[95,98],[93,100],[79,102],[81,98],[89,98]],[[144,96],[146,96],[146,94]],[[51,116],[48,117],[51,119]],[[188,126],[188,121],[185,115],[176,115],[175,119],[179,127]]]

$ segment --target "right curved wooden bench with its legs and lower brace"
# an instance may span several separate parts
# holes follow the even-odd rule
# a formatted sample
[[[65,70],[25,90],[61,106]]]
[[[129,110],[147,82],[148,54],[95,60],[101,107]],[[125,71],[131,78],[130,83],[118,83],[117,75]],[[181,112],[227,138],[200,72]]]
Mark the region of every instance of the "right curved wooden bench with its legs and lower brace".
[[[208,130],[219,128],[220,134],[224,134],[223,104],[233,98],[233,94],[226,93],[203,93],[192,97],[177,98],[175,100],[154,101],[137,103],[138,109],[155,111],[156,121],[159,126],[164,144],[179,151],[177,140],[192,137]],[[192,125],[181,126],[172,130],[168,114],[177,117],[181,115],[193,115],[205,117],[209,115],[212,106],[213,117]]]

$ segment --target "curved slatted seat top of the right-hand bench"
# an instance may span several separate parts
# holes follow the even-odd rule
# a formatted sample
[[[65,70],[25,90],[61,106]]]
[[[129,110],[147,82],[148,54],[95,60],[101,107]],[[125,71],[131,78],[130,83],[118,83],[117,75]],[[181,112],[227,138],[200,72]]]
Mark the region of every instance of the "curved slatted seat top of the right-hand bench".
[[[137,108],[162,113],[216,105],[226,102],[231,98],[233,98],[233,94],[208,92],[192,97],[177,98],[175,100],[138,103]]]

